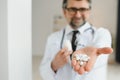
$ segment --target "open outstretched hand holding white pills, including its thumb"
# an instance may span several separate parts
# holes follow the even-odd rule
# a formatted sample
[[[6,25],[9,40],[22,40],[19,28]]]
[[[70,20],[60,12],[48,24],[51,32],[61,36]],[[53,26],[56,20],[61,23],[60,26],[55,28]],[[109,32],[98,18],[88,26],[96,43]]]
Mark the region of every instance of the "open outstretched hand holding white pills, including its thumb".
[[[73,56],[76,54],[86,54],[87,56],[90,57],[90,59],[87,62],[84,62],[82,66],[80,66],[79,62],[73,58],[72,66],[74,70],[79,74],[83,74],[86,71],[89,72],[93,68],[95,61],[100,54],[110,54],[112,52],[113,52],[113,49],[109,47],[104,47],[104,48],[85,47],[80,50],[76,50],[73,53]]]

